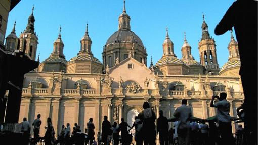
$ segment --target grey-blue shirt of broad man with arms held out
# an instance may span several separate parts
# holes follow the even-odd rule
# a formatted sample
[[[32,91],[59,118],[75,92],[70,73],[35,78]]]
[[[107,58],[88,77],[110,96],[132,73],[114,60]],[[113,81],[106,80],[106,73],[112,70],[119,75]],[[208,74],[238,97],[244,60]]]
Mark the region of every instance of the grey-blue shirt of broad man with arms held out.
[[[176,111],[174,112],[174,116],[179,118],[178,128],[190,128],[189,119],[193,116],[190,107],[186,106],[185,104],[182,104],[180,107],[176,109]]]

